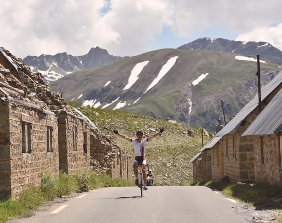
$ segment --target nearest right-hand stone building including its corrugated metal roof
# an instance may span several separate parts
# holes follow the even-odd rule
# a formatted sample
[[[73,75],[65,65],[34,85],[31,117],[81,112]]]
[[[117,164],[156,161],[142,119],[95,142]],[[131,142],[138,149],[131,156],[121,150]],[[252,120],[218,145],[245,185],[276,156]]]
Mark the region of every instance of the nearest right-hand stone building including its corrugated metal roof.
[[[256,182],[282,185],[282,88],[242,134],[253,137]]]

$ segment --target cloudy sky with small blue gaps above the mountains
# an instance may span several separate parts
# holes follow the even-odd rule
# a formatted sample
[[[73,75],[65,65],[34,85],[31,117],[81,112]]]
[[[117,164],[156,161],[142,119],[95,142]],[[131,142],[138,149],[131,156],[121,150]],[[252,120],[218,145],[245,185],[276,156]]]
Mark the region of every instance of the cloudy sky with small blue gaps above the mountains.
[[[177,48],[201,37],[282,50],[281,0],[0,0],[0,47],[14,56],[114,56]]]

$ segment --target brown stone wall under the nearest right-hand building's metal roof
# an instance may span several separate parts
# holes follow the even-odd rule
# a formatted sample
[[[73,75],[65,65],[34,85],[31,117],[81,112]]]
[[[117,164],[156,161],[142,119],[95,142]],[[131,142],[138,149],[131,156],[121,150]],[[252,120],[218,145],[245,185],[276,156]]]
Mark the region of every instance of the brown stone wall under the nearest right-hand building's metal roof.
[[[281,185],[282,135],[254,136],[256,182]]]

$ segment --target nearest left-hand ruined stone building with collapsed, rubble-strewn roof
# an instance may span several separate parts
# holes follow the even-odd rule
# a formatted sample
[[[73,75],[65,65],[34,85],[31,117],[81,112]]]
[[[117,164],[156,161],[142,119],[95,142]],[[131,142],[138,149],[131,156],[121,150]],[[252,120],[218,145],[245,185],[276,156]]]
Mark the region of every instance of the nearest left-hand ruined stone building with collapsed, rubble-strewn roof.
[[[57,117],[36,97],[48,90],[44,81],[30,73],[0,48],[0,198],[18,198],[44,172],[59,174]]]

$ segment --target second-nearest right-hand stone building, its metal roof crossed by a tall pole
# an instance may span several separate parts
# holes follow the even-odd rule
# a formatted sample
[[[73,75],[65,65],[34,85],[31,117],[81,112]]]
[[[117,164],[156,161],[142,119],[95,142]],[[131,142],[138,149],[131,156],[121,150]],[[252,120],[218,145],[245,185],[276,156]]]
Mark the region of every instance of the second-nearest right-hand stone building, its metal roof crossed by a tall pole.
[[[282,87],[282,71],[261,91],[262,109]],[[223,138],[224,175],[231,182],[254,182],[254,137],[241,137],[259,113],[256,95],[215,137]]]

